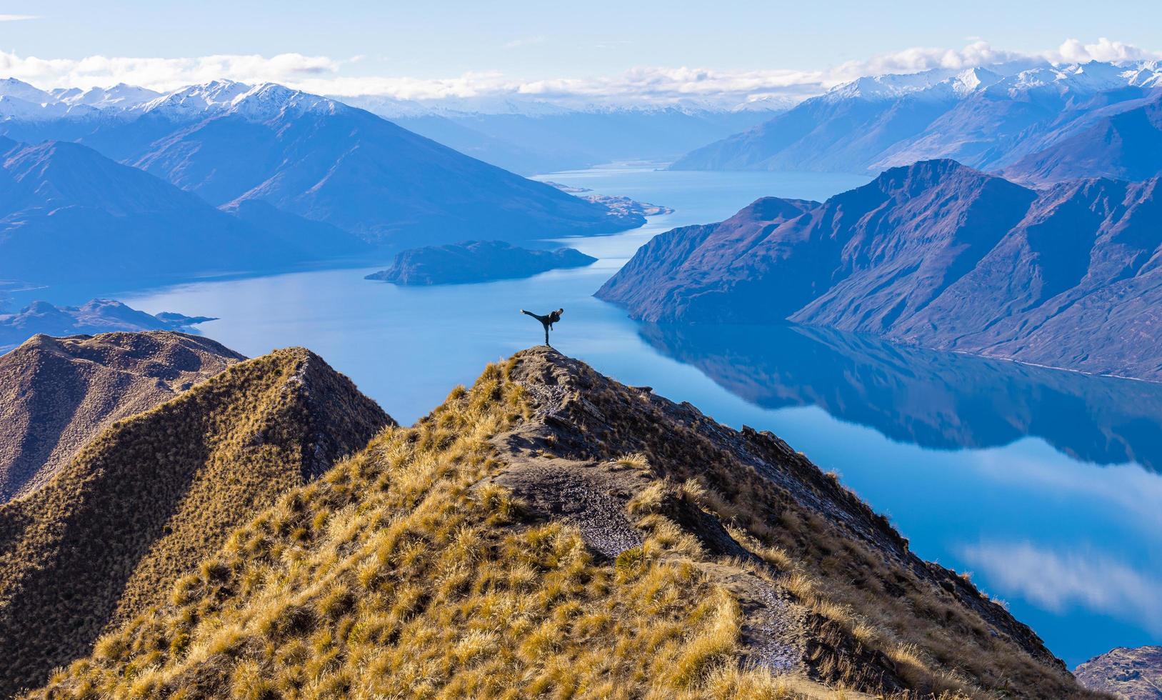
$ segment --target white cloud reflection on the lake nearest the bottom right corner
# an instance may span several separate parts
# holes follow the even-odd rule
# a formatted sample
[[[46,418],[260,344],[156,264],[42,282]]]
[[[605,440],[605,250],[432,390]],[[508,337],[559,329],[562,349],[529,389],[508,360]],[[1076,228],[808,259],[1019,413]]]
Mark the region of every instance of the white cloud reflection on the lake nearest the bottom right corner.
[[[1055,613],[1081,606],[1162,634],[1156,573],[1142,573],[1100,552],[1053,551],[1028,542],[969,545],[961,555],[1003,595],[1019,595]]]

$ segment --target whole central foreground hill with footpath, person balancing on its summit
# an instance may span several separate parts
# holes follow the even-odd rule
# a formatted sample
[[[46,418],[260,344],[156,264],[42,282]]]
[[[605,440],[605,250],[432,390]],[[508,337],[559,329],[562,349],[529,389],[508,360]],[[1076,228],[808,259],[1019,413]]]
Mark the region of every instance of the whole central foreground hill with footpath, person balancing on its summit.
[[[1104,697],[779,438],[536,349],[284,497],[31,697],[839,687]]]

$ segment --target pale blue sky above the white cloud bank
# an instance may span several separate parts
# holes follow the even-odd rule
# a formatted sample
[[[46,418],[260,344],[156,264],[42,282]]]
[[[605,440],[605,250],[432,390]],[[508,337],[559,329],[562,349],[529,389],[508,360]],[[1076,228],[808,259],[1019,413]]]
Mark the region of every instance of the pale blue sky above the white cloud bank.
[[[30,57],[76,62],[299,55],[314,63],[284,60],[281,67],[271,69],[272,74],[287,83],[296,80],[296,72],[302,80],[346,78],[347,92],[364,92],[356,78],[432,80],[473,73],[505,80],[593,79],[641,67],[682,66],[729,74],[824,76],[846,64],[855,64],[848,73],[874,72],[882,67],[869,62],[875,57],[899,56],[914,48],[962,50],[974,42],[1026,53],[1056,50],[1070,38],[1095,44],[1099,37],[1146,51],[1162,49],[1153,31],[1162,26],[1162,3],[1141,1],[1097,7],[1070,0],[976,0],[955,6],[916,1],[129,0],[110,8],[92,1],[37,0],[0,2],[0,14],[35,17],[0,22],[0,49],[6,52],[0,71],[58,84],[107,83],[129,76],[163,86],[168,73],[134,73],[125,70],[128,64],[106,65],[103,73],[78,73],[62,67],[64,63],[53,67],[41,62],[30,67]],[[248,65],[221,70],[251,70],[266,78],[266,69],[256,69],[253,62]],[[170,70],[173,73],[177,67]],[[171,78],[180,80],[177,73]],[[376,90],[394,90],[385,85],[392,84],[381,83]]]

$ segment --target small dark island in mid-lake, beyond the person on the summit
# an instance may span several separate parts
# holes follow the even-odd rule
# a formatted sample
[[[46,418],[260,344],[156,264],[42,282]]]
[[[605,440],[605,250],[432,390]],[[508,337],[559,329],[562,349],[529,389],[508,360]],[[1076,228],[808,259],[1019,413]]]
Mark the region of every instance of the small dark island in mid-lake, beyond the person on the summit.
[[[403,250],[390,267],[366,279],[396,285],[462,285],[584,267],[596,260],[573,248],[529,250],[503,241],[466,241]]]

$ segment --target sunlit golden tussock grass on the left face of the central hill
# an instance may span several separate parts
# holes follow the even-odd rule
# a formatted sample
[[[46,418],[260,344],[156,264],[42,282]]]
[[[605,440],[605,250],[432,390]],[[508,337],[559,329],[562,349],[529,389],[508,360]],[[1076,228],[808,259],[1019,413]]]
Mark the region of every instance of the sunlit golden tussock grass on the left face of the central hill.
[[[526,412],[490,366],[284,497],[33,697],[797,697],[739,667],[738,603],[673,523],[601,564],[576,530],[478,486],[489,438]]]

